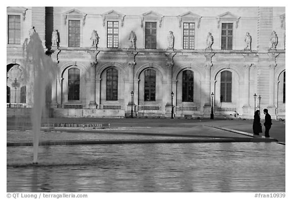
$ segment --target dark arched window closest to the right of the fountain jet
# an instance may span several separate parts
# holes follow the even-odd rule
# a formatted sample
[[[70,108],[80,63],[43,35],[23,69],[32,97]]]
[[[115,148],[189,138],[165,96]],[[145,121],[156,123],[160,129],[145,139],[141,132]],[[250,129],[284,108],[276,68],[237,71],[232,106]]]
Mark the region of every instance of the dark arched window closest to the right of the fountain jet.
[[[68,100],[79,100],[80,71],[78,68],[68,70]]]

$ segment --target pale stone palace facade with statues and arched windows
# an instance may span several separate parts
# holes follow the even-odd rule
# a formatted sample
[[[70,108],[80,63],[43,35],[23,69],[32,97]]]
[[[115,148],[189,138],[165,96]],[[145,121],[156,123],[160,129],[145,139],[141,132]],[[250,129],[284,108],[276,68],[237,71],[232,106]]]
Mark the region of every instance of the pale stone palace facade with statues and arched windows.
[[[284,7],[8,7],[7,20],[8,115],[33,106],[35,31],[59,68],[50,116],[285,118]]]

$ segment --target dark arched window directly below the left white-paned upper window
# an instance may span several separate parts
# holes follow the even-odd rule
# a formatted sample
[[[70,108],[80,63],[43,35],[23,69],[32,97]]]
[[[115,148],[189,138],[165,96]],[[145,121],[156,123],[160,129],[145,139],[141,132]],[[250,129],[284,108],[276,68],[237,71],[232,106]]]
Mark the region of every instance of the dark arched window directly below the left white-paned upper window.
[[[118,70],[106,70],[106,100],[118,100]]]

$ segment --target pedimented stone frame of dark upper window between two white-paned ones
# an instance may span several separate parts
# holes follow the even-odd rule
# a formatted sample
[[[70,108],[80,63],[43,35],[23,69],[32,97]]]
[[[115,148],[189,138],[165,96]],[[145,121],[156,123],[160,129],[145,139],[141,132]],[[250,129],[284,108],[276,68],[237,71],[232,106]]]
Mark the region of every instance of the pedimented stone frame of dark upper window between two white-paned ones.
[[[147,13],[143,13],[141,15],[141,28],[143,28],[143,43],[142,47],[145,49],[145,32],[146,32],[146,22],[156,22],[158,24],[158,27],[161,28],[162,26],[162,21],[163,21],[164,16],[153,12],[149,11]],[[157,27],[156,29],[156,49],[160,49],[159,46],[159,38],[160,38],[160,31],[159,28]]]

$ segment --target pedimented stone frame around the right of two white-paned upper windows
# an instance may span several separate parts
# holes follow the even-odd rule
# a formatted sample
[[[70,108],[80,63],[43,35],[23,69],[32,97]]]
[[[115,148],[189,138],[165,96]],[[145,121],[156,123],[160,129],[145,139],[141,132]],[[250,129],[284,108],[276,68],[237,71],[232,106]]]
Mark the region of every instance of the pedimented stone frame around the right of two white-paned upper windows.
[[[177,18],[179,20],[178,27],[181,29],[180,30],[180,35],[181,35],[180,49],[184,49],[184,23],[195,23],[195,27],[197,27],[195,28],[195,43],[194,43],[194,49],[196,49],[196,47],[198,46],[198,41],[197,41],[198,29],[200,28],[200,22],[201,22],[202,17],[195,13],[187,12],[187,13],[178,15]],[[191,49],[188,49],[188,50],[191,50]]]

